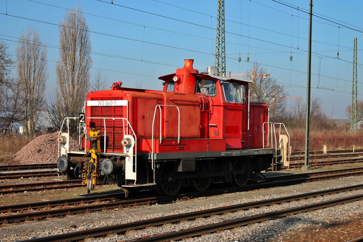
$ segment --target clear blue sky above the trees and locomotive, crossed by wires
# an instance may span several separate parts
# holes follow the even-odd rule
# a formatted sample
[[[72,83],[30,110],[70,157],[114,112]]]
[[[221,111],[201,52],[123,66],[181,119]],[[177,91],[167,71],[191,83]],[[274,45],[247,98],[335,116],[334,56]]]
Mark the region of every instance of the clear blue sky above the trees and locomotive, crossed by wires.
[[[111,0],[0,0],[0,39],[11,54],[21,31],[29,27],[48,47],[49,95],[56,87],[57,24],[77,2],[91,31],[92,76],[102,70],[109,85],[122,81],[125,87],[135,87],[141,82],[142,88],[160,90],[158,77],[174,73],[184,59],[194,59],[199,70],[214,65],[217,0],[113,0],[114,4]],[[311,93],[322,97],[333,118],[346,118],[354,37],[358,38],[358,99],[363,99],[363,1],[313,0],[313,5]],[[227,73],[247,73],[258,62],[289,95],[305,98],[307,12],[309,0],[225,0]]]

